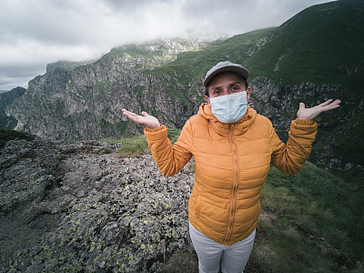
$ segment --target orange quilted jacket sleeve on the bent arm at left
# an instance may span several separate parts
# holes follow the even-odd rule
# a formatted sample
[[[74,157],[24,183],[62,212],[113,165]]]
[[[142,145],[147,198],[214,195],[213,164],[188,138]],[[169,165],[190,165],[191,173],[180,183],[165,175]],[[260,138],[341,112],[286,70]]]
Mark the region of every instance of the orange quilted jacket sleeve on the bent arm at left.
[[[148,146],[163,176],[175,176],[191,159],[192,131],[189,121],[183,127],[174,146],[167,138],[166,126],[158,129],[145,128],[144,134],[147,136]]]

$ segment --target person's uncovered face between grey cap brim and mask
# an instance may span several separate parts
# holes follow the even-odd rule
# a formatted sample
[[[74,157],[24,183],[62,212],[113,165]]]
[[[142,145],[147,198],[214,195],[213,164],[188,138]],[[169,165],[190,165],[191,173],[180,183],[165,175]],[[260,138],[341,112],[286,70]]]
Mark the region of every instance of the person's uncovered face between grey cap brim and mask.
[[[247,91],[247,99],[250,98],[250,87],[247,88],[241,76],[235,72],[223,72],[214,76],[208,83],[207,103],[209,97],[226,96],[241,91]]]

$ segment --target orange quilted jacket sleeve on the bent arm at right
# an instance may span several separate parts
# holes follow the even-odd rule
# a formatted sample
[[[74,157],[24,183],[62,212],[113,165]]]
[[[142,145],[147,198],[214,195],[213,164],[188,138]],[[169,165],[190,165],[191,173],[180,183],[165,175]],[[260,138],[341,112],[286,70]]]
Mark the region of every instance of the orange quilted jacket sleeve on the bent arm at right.
[[[295,119],[290,125],[288,142],[284,144],[272,127],[270,132],[272,165],[288,175],[297,174],[311,152],[317,131],[318,124],[315,121]]]

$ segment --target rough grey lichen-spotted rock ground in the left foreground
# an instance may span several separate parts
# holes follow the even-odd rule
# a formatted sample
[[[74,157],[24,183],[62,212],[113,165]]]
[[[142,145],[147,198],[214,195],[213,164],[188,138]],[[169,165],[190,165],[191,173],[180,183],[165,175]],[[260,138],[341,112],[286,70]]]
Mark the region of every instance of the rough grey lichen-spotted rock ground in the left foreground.
[[[0,217],[8,222],[2,229],[21,223],[23,230],[13,228],[11,236],[23,231],[30,237],[16,244],[2,237],[8,247],[2,247],[0,272],[162,272],[168,258],[190,244],[187,201],[193,174],[182,170],[162,177],[150,155],[121,158],[103,152],[115,148],[35,140],[10,142],[1,150],[7,201]],[[7,179],[25,169],[42,187],[29,187],[21,176],[20,195]],[[9,192],[22,201],[5,199]]]

